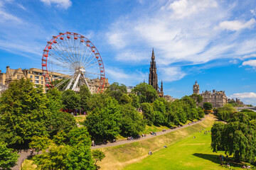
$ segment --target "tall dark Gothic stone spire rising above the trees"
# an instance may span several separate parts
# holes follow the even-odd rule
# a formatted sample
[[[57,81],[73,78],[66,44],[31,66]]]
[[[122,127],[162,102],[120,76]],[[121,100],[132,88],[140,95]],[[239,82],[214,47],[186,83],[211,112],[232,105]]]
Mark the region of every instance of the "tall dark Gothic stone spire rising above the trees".
[[[154,89],[156,89],[160,97],[164,96],[163,81],[161,81],[161,88],[159,88],[158,86],[154,49],[152,50],[151,62],[149,67],[149,85],[153,86]]]

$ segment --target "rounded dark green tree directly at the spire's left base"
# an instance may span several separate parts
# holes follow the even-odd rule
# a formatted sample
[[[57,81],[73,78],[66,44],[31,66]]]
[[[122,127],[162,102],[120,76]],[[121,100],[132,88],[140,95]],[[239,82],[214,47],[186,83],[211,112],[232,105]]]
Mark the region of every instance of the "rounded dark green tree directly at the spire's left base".
[[[152,103],[158,96],[153,86],[146,83],[137,84],[132,93],[139,96],[139,103]]]

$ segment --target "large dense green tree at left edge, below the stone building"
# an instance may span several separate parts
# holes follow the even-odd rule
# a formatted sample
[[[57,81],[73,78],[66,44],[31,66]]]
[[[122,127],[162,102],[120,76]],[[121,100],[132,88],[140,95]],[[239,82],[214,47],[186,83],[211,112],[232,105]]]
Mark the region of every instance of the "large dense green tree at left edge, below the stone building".
[[[48,135],[48,103],[41,87],[15,80],[0,98],[0,136],[9,145],[28,145],[34,135]]]

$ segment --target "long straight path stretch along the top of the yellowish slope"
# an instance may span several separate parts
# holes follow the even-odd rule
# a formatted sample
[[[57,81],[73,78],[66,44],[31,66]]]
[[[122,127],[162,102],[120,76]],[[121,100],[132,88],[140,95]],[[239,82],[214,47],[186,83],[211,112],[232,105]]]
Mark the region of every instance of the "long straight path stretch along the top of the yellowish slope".
[[[96,144],[96,146],[95,147],[92,147],[92,149],[98,149],[98,148],[102,148],[102,147],[113,147],[113,146],[117,146],[117,145],[123,145],[123,144],[127,144],[127,143],[132,143],[132,142],[138,142],[138,141],[140,141],[140,140],[147,140],[147,139],[149,139],[149,138],[151,138],[151,137],[157,137],[157,136],[159,136],[159,135],[164,135],[164,134],[166,134],[166,133],[169,133],[169,132],[173,132],[173,131],[175,131],[175,130],[181,130],[181,129],[183,129],[183,128],[186,128],[186,127],[188,127],[188,126],[192,126],[192,125],[195,125],[195,124],[197,124],[197,123],[200,123],[200,122],[202,122],[203,120],[205,120],[206,119],[206,116],[208,116],[208,115],[205,115],[205,117],[204,118],[202,118],[201,120],[198,120],[198,121],[196,121],[196,123],[191,123],[191,125],[183,125],[182,127],[180,127],[180,128],[175,128],[175,129],[167,129],[166,131],[160,131],[160,132],[156,132],[156,135],[151,135],[151,134],[146,134],[146,137],[139,137],[139,138],[137,138],[137,139],[134,139],[134,140],[117,140],[116,142],[107,142],[107,144],[106,145],[104,145],[104,144],[102,144],[102,145],[97,145]]]

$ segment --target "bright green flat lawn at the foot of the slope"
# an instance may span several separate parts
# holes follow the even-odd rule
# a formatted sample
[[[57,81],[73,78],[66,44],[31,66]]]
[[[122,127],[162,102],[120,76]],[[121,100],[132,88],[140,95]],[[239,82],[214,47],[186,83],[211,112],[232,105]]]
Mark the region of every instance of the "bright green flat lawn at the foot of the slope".
[[[206,128],[210,130],[210,128]],[[193,138],[196,136],[196,138]],[[210,133],[196,132],[190,137],[160,149],[141,161],[125,166],[129,169],[228,169],[220,166],[219,155],[210,149]],[[238,167],[234,167],[238,166]],[[242,165],[230,163],[230,168],[241,169]]]

